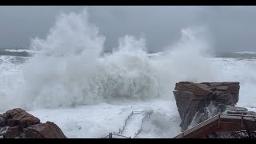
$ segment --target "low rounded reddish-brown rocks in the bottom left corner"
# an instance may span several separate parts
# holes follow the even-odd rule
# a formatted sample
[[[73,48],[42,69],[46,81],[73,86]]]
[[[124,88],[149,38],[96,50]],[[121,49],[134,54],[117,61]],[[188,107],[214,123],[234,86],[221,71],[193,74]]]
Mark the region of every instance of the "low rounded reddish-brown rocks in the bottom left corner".
[[[0,138],[66,138],[53,122],[40,119],[16,108],[0,114]]]

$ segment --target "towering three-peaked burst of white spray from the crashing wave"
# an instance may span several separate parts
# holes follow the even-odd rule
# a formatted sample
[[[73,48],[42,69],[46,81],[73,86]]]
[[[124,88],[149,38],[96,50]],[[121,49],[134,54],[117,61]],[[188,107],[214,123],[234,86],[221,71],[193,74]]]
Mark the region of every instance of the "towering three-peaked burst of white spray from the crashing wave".
[[[0,110],[154,98],[174,102],[176,82],[242,80],[226,77],[226,68],[212,61],[206,32],[200,26],[185,28],[178,42],[158,54],[147,53],[146,39],[124,35],[113,52],[102,54],[106,38],[86,10],[60,14],[46,38],[32,39],[30,50],[38,53],[12,75],[18,82],[5,78],[11,84],[0,91]]]

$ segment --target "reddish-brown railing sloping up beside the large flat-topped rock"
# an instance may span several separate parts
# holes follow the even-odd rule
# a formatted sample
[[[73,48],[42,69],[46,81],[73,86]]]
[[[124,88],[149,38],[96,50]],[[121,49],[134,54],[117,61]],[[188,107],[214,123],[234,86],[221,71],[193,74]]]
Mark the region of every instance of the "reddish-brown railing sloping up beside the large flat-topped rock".
[[[212,118],[207,119],[204,122],[200,122],[197,125],[191,127],[189,130],[185,130],[182,132],[182,134],[178,134],[177,136],[175,136],[174,138],[183,138],[184,136],[186,136],[187,134],[190,134],[191,132],[193,132],[194,130],[198,130],[200,128],[202,128],[203,126],[206,126],[208,124],[210,124],[211,122],[214,122],[216,120],[218,120],[218,127],[220,126],[221,123],[221,119],[241,119],[241,126],[242,126],[242,122],[243,120],[250,120],[250,121],[256,121],[256,117],[255,115],[243,115],[243,114],[217,114]]]

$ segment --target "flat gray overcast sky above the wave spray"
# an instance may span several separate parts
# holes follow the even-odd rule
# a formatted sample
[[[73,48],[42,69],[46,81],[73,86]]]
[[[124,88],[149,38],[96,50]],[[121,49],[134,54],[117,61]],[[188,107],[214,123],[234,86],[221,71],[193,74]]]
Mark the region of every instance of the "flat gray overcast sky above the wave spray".
[[[56,16],[85,6],[0,6],[0,47],[28,47],[45,38]],[[206,26],[218,51],[256,51],[256,6],[87,6],[107,49],[125,34],[143,35],[159,51],[188,26]]]

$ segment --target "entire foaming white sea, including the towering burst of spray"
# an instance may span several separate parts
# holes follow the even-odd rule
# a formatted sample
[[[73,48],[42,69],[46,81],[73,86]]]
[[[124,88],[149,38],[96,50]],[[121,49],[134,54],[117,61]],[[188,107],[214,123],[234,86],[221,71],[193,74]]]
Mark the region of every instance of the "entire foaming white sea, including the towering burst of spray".
[[[146,39],[125,35],[110,53],[86,10],[61,14],[28,50],[0,50],[0,112],[16,107],[56,123],[68,138],[101,138],[118,131],[132,111],[154,110],[138,138],[181,132],[176,82],[240,82],[239,102],[256,111],[256,53],[213,52],[202,30],[181,30],[178,42],[148,53]],[[127,123],[127,137],[143,115]]]

